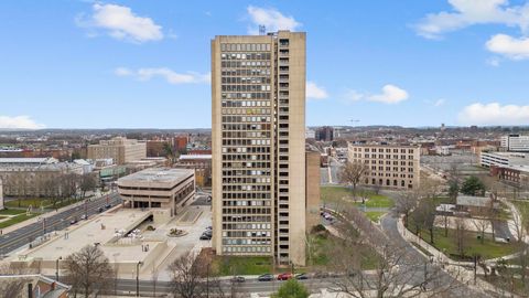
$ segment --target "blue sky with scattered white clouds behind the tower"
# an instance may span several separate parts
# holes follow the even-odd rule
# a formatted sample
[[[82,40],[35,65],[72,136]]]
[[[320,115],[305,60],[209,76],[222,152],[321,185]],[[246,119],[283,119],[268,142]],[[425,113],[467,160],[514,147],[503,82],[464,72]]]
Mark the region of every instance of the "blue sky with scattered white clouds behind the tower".
[[[210,127],[209,40],[307,32],[306,124],[529,125],[529,1],[0,3],[0,127]]]

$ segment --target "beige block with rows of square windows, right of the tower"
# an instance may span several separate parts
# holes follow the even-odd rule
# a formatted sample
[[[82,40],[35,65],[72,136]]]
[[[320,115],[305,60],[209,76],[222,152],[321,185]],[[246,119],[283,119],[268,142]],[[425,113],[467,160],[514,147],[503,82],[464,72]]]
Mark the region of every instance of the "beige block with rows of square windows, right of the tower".
[[[415,189],[420,183],[420,147],[401,145],[356,145],[349,142],[349,162],[369,168],[360,183],[393,189]]]

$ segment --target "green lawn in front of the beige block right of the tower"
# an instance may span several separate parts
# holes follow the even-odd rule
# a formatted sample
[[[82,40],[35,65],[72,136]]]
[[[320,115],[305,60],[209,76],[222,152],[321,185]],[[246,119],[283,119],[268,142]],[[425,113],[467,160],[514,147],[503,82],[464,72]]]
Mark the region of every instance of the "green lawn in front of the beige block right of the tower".
[[[332,203],[343,203],[344,198],[353,200],[353,192],[350,189],[345,187],[321,187],[321,198],[323,202]],[[359,193],[360,190],[357,190]],[[376,194],[374,191],[364,191],[367,196],[366,206],[368,207],[391,207],[393,206],[393,201],[386,195]],[[359,195],[357,195],[359,196]],[[354,203],[355,205],[361,205],[361,199],[357,199],[358,202]]]

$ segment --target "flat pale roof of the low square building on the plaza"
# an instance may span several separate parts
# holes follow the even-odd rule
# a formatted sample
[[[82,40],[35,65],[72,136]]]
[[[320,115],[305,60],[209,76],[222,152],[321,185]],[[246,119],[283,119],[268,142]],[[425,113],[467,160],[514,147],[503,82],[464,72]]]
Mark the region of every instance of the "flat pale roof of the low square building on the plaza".
[[[195,173],[192,169],[150,168],[118,180],[119,182],[180,182]]]

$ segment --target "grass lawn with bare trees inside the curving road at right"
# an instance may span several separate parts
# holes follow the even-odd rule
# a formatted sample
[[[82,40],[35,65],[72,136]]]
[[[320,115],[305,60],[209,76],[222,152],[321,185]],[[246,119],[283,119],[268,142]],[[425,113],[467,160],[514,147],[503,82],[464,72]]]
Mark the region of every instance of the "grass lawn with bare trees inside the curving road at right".
[[[411,225],[410,225],[411,226]],[[496,258],[514,254],[518,247],[514,243],[496,243],[492,240],[490,234],[485,234],[484,243],[477,238],[478,233],[466,232],[464,238],[464,254],[472,257],[473,255],[481,255],[483,259]],[[421,231],[421,238],[430,243],[430,233],[427,230]],[[457,244],[455,241],[455,230],[449,228],[449,236],[444,236],[444,228],[435,227],[433,230],[433,246],[441,252],[444,252],[451,258],[458,259]]]

